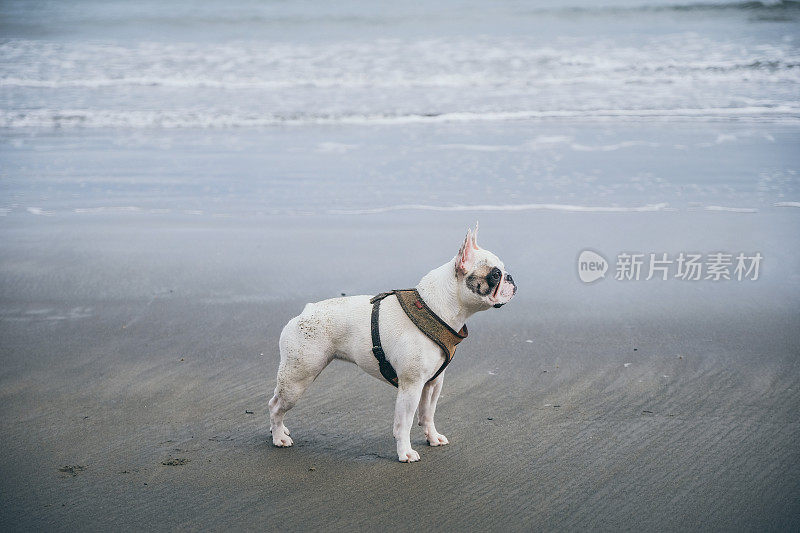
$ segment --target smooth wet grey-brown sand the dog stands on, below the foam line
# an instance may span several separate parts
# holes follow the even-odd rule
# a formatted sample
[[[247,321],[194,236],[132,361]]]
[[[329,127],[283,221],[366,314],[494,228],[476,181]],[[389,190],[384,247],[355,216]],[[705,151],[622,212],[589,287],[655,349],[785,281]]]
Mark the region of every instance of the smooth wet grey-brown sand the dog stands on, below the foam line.
[[[412,285],[473,214],[7,217],[0,527],[796,530],[797,216],[480,214],[520,292],[470,320],[437,412],[452,444],[415,427],[411,465],[394,390],[344,363],[272,447],[277,339],[306,301]],[[676,243],[772,270],[577,281],[583,246]]]

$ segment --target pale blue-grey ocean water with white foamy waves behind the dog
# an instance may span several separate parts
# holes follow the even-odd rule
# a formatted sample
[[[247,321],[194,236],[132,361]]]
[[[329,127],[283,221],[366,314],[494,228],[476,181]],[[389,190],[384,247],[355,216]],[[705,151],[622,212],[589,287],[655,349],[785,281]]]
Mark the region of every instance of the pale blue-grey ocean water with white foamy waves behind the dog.
[[[800,2],[0,4],[0,213],[800,200]]]

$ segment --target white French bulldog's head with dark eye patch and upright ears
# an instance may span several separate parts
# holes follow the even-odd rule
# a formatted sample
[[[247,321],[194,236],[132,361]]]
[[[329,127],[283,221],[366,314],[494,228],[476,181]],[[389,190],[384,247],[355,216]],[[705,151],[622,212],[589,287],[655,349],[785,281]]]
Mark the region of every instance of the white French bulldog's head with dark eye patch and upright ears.
[[[467,236],[455,257],[455,276],[461,303],[471,309],[501,307],[517,292],[517,285],[500,259],[478,246],[478,225]]]

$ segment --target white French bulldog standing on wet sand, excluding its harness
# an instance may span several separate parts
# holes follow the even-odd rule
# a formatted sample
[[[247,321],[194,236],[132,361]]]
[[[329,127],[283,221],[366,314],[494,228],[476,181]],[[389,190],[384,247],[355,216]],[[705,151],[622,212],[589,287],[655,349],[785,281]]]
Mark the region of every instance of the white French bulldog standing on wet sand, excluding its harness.
[[[416,289],[422,300],[454,331],[477,311],[500,307],[517,291],[511,275],[496,255],[478,247],[475,232],[467,230],[458,254],[426,274]],[[385,381],[373,355],[370,329],[370,296],[349,296],[309,303],[291,319],[280,336],[281,362],[275,395],[269,401],[270,429],[275,446],[291,446],[283,424],[291,409],[328,363],[341,359],[357,364]],[[433,414],[442,390],[444,372],[428,381],[445,360],[439,346],[409,319],[395,296],[380,307],[379,331],[386,359],[398,376],[394,413],[397,457],[419,461],[411,448],[411,425],[419,409],[419,425],[431,446],[448,444],[436,431]]]

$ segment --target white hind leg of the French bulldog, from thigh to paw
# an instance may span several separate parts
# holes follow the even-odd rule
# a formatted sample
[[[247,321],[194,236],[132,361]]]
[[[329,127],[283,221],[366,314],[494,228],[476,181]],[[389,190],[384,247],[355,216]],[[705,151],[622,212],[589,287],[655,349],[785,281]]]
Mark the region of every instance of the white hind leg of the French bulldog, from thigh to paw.
[[[294,407],[306,388],[333,359],[324,347],[314,342],[313,330],[308,329],[306,322],[302,315],[293,318],[281,332],[281,363],[275,394],[269,401],[272,443],[279,447],[293,444],[289,430],[283,424],[286,412]]]

